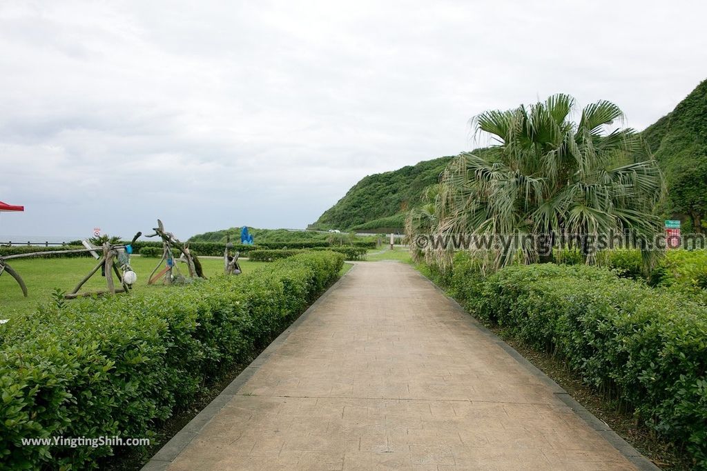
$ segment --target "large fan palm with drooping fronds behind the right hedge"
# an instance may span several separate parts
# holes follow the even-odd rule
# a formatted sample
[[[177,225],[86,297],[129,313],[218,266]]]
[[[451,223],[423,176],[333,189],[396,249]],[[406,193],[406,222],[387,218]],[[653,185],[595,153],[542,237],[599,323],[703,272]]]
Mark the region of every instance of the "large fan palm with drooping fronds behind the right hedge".
[[[496,145],[462,153],[440,177],[435,200],[438,234],[607,234],[633,229],[654,234],[653,213],[665,193],[662,174],[633,129],[607,131],[624,118],[599,101],[571,119],[575,100],[487,111],[472,122]],[[491,268],[538,261],[537,247],[497,250]],[[591,254],[590,260],[591,261]]]

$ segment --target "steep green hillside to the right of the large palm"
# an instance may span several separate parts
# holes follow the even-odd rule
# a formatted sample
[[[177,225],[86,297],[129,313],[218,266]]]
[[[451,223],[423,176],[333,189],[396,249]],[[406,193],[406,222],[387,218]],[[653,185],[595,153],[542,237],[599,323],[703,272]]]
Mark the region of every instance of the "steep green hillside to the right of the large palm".
[[[704,229],[707,222],[707,80],[642,134],[665,172],[666,215],[681,217],[686,231]]]

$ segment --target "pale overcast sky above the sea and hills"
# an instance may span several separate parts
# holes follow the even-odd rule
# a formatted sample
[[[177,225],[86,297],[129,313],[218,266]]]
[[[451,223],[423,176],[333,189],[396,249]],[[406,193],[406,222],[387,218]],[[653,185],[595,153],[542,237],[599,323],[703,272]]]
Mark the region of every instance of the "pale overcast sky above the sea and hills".
[[[0,1],[0,235],[305,227],[551,93],[643,129],[707,77],[703,1]]]

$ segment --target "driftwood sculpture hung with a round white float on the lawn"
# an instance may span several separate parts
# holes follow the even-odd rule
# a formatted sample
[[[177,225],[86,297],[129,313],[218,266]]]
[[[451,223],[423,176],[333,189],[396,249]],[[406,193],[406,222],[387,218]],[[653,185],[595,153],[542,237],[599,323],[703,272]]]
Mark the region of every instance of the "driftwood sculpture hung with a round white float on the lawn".
[[[128,292],[132,287],[133,282],[136,280],[136,276],[132,268],[130,268],[130,258],[128,254],[128,247],[135,243],[138,237],[142,235],[142,232],[138,232],[133,237],[132,242],[127,245],[114,245],[110,242],[105,242],[103,244],[103,253],[98,255],[95,250],[98,248],[87,247],[83,251],[90,251],[92,254],[98,255],[98,263],[93,270],[88,272],[88,275],[83,277],[83,279],[78,282],[78,285],[69,294],[64,294],[66,299],[74,299],[76,297],[90,296],[92,294],[115,294]],[[81,251],[81,250],[78,250]],[[58,252],[55,252],[58,253]],[[95,256],[94,255],[94,256]],[[120,268],[118,268],[118,266]],[[105,276],[105,283],[107,285],[107,290],[98,290],[93,292],[83,292],[79,293],[81,287],[93,276],[98,270]],[[120,287],[116,288],[113,282],[113,273],[118,277],[118,282]]]

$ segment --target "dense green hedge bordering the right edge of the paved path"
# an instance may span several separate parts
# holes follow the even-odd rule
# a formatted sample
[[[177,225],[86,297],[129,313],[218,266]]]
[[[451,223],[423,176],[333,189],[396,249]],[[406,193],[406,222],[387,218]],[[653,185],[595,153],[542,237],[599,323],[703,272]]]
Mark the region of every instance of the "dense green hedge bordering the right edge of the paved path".
[[[483,279],[466,254],[440,280],[481,321],[558,355],[707,469],[707,307],[689,292],[579,265],[510,266]]]

